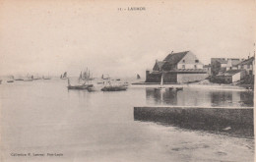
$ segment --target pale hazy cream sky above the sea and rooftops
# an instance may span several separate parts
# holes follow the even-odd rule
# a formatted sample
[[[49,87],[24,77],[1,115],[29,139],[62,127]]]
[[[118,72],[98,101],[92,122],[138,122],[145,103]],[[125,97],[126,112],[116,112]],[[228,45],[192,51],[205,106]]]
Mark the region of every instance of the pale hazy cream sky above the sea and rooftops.
[[[254,0],[0,0],[0,75],[145,76],[171,51],[247,58]],[[118,8],[145,7],[145,11]]]

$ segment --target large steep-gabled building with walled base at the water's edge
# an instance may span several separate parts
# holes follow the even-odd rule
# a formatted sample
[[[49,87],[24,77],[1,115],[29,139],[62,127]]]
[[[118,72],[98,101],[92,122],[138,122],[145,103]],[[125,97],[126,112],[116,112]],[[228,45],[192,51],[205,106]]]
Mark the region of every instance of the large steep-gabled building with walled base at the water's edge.
[[[170,53],[163,61],[156,61],[153,71],[146,71],[146,82],[191,82],[208,77],[203,63],[191,51]]]

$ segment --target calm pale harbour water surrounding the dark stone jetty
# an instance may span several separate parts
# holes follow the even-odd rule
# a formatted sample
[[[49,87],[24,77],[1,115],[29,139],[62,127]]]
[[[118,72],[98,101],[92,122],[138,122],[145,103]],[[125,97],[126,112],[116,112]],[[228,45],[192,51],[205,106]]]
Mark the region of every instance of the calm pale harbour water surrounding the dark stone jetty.
[[[130,85],[116,92],[66,86],[67,80],[59,79],[0,84],[0,161],[254,160],[253,135],[134,118],[135,106],[253,107],[252,92],[211,85],[184,85],[183,90],[162,93],[154,90],[156,85]]]

